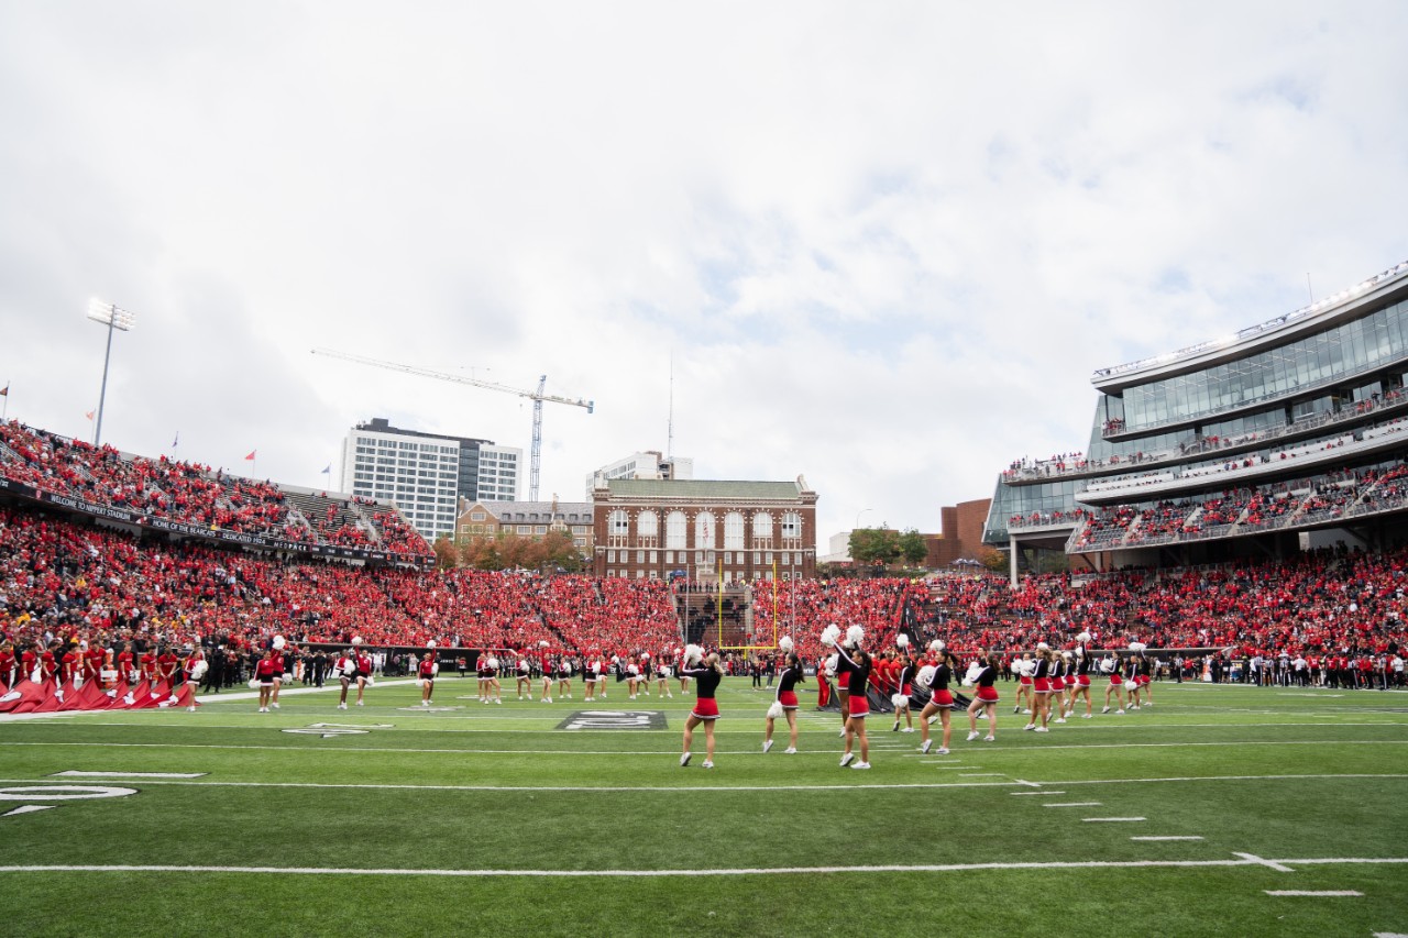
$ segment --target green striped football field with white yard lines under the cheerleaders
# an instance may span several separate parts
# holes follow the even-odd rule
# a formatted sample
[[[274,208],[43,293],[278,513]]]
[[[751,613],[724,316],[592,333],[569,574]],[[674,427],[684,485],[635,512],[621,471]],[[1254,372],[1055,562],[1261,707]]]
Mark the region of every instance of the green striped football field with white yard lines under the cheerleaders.
[[[814,692],[765,755],[748,679],[680,768],[672,686],[0,721],[0,932],[1408,934],[1408,694],[1159,683],[1039,735],[1000,684],[994,742],[877,714],[865,772]]]

